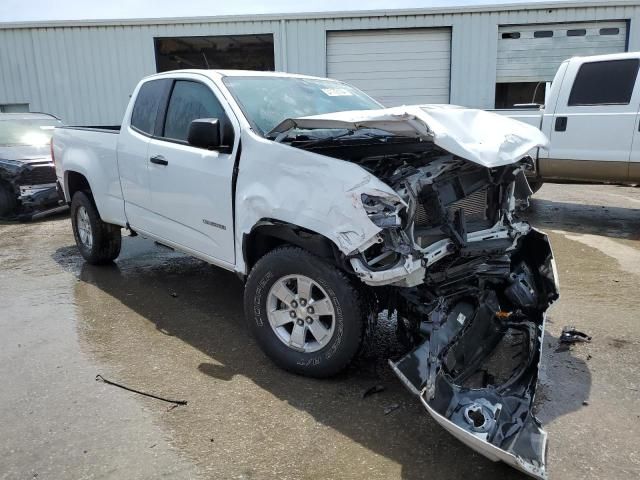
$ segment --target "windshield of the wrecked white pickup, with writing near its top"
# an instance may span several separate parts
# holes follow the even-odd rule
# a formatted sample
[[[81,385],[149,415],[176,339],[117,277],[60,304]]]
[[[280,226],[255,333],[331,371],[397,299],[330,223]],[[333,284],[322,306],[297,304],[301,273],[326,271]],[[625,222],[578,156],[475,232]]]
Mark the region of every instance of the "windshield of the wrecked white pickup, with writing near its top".
[[[265,135],[288,118],[383,108],[360,90],[334,80],[224,77],[247,120]]]

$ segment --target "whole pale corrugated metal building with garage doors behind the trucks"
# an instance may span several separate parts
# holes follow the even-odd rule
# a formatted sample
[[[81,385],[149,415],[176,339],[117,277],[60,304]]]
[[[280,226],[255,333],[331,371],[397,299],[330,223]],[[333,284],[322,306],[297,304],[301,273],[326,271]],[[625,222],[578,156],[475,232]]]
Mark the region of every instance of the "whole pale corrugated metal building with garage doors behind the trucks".
[[[388,106],[507,107],[562,60],[640,50],[640,2],[0,24],[0,111],[120,122],[138,80],[175,68],[275,69],[352,83]]]

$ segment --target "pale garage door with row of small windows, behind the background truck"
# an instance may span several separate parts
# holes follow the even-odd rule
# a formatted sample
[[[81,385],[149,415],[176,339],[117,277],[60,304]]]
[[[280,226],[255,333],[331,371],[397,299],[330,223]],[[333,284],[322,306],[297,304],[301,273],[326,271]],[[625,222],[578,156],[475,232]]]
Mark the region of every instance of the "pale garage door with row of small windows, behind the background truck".
[[[551,81],[563,60],[625,51],[626,22],[500,27],[498,83]]]

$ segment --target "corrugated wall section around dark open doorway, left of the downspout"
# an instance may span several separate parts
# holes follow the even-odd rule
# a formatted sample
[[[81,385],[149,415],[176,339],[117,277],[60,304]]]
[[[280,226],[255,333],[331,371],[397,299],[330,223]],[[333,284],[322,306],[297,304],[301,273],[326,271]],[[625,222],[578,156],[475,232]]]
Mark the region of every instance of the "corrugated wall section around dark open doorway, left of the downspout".
[[[242,33],[280,45],[278,21],[0,29],[0,104],[29,103],[73,125],[119,124],[138,81],[156,72],[154,37]]]

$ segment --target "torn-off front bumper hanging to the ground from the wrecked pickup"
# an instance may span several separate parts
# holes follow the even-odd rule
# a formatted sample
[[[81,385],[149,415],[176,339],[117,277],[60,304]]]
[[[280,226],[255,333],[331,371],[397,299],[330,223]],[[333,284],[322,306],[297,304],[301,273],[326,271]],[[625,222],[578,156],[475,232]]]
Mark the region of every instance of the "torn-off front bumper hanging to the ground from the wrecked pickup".
[[[456,438],[544,479],[547,434],[532,409],[546,310],[558,298],[547,236],[532,229],[507,258],[463,273],[423,305],[424,341],[391,367]]]

